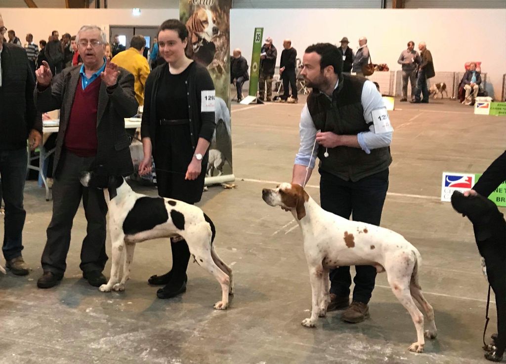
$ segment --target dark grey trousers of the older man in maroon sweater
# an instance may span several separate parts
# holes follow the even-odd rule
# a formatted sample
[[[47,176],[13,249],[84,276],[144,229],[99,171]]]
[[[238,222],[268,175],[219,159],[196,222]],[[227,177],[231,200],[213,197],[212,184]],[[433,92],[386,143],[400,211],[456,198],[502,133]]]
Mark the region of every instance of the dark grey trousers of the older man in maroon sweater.
[[[88,221],[86,237],[82,241],[81,263],[83,272],[102,271],[107,261],[105,253],[107,203],[103,190],[85,188],[80,173],[89,171],[95,157],[79,157],[63,150],[61,165],[53,176],[53,216],[48,226],[48,241],[42,254],[44,271],[61,275],[67,267],[70,232],[74,216],[81,203]]]

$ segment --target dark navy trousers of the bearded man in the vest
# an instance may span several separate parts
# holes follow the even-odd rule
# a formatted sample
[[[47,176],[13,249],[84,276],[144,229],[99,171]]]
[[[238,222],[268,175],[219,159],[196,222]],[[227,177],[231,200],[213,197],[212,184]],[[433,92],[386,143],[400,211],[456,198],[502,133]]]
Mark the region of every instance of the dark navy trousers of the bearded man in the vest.
[[[387,196],[389,170],[364,177],[356,182],[345,181],[331,173],[321,171],[321,207],[354,221],[379,225],[383,205]],[[353,301],[367,304],[371,298],[376,278],[376,268],[370,265],[356,265],[353,279]],[[330,293],[338,297],[350,295],[350,267],[342,266],[330,271]]]

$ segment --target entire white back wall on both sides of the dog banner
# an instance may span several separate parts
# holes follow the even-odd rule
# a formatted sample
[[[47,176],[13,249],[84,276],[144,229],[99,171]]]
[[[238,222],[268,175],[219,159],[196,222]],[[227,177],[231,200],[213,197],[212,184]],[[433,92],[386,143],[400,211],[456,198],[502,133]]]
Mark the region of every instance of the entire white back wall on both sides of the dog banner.
[[[141,8],[142,9],[142,8]],[[131,9],[13,9],[0,8],[8,29],[24,41],[46,39],[52,30],[75,34],[82,24],[156,26],[179,18],[178,9],[142,9],[139,17]],[[474,31],[465,31],[463,19],[475,19]],[[231,49],[240,48],[250,63],[254,28],[264,27],[282,50],[282,39],[290,37],[302,57],[315,42],[337,43],[347,36],[355,49],[358,38],[368,38],[374,63],[400,69],[397,59],[408,40],[426,41],[436,71],[462,71],[468,61],[481,61],[487,72],[488,91],[500,98],[502,75],[506,73],[506,10],[458,9],[232,9]],[[278,56],[279,64],[279,56]]]

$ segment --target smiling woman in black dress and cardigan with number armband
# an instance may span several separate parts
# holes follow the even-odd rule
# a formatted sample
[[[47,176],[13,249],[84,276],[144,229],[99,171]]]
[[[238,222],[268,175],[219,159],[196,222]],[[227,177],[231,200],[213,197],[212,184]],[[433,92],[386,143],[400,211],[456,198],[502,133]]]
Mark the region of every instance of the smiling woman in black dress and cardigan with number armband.
[[[186,57],[188,31],[179,20],[164,21],[158,30],[160,57],[166,63],[146,80],[141,136],[144,159],[139,174],[156,167],[158,194],[190,204],[200,201],[209,142],[215,130],[215,87],[207,69]],[[182,238],[172,238],[172,270],[148,282],[165,285],[159,298],[186,291],[190,259]]]

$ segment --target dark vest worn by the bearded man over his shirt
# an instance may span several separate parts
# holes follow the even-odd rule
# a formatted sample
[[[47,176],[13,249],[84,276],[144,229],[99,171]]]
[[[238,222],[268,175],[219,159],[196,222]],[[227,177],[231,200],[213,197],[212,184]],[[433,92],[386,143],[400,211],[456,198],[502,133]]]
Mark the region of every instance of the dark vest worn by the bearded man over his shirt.
[[[364,119],[362,107],[362,88],[367,79],[343,74],[338,88],[334,90],[332,101],[318,90],[308,97],[308,109],[316,130],[332,131],[339,135],[357,135],[368,131],[371,123]],[[390,148],[371,149],[366,154],[360,148],[336,147],[318,148],[320,169],[344,180],[357,181],[374,173],[381,172],[392,163]]]

